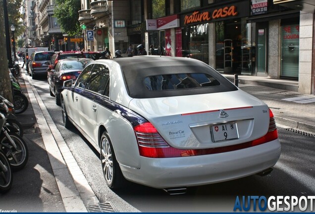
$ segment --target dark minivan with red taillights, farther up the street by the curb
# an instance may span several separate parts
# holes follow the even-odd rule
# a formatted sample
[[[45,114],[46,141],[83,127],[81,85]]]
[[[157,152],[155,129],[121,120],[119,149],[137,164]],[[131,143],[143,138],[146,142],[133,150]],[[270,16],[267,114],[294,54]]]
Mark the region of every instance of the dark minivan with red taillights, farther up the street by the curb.
[[[29,75],[32,76],[32,79],[35,79],[39,75],[47,75],[48,65],[45,64],[46,61],[51,60],[54,52],[33,52],[31,54],[28,70]]]

